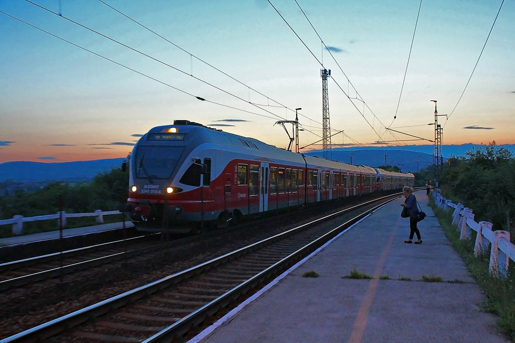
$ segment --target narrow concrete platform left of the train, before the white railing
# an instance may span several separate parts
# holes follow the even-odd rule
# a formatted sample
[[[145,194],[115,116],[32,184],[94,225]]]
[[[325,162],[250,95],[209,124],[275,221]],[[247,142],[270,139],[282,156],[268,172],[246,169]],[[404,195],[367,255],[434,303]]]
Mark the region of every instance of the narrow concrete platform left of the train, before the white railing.
[[[126,227],[134,226],[132,224],[132,222],[130,222],[130,221],[125,222],[125,225],[126,225]],[[119,222],[119,223],[87,226],[87,227],[77,227],[77,228],[73,228],[73,229],[64,229],[63,237],[68,238],[68,237],[80,236],[83,234],[97,233],[97,232],[102,232],[102,231],[119,230],[122,227],[123,227],[123,223]],[[38,242],[38,241],[45,241],[45,240],[53,240],[53,239],[58,239],[59,235],[60,235],[59,230],[54,230],[54,231],[47,231],[47,232],[40,232],[40,233],[24,234],[23,236],[1,238],[0,246],[9,246],[9,245],[26,244],[26,243],[32,243],[32,242]]]

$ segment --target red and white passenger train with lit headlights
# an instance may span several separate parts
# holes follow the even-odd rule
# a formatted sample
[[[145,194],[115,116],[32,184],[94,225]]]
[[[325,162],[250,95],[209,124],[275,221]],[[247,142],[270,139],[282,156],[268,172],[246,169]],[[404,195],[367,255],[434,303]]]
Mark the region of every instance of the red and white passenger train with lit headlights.
[[[129,171],[128,212],[146,231],[220,227],[249,214],[415,182],[410,173],[293,153],[188,120],[141,137]]]

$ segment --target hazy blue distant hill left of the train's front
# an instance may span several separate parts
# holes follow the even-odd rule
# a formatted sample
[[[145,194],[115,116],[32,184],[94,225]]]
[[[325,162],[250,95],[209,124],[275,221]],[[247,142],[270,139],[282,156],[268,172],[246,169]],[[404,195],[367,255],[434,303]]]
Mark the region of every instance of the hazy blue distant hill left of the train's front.
[[[112,168],[119,168],[123,160],[125,158],[60,163],[6,162],[0,164],[0,182],[8,179],[23,182],[85,181],[92,179],[99,172],[108,172]]]

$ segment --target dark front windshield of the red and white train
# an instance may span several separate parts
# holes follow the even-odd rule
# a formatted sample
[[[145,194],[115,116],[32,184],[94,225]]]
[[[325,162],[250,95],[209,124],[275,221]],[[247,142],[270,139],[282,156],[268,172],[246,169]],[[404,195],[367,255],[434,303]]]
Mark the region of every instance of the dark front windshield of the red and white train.
[[[135,156],[136,178],[169,179],[185,147],[139,146]]]

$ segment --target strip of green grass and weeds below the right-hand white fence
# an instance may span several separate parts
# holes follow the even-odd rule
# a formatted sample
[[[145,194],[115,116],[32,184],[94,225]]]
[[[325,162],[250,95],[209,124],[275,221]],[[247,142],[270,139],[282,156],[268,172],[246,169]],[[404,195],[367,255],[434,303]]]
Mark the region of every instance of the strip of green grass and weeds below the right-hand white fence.
[[[460,240],[459,232],[451,224],[452,211],[444,212],[442,209],[437,208],[433,198],[430,198],[429,205],[433,208],[452,247],[465,261],[472,277],[483,288],[486,296],[483,309],[488,313],[499,315],[500,318],[497,321],[497,326],[512,340],[515,340],[515,266],[513,264],[509,265],[508,278],[506,280],[492,277],[488,270],[489,252],[483,256],[474,256],[476,232],[472,230],[470,240]]]

